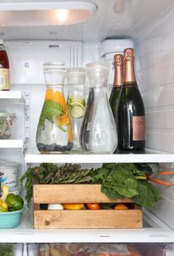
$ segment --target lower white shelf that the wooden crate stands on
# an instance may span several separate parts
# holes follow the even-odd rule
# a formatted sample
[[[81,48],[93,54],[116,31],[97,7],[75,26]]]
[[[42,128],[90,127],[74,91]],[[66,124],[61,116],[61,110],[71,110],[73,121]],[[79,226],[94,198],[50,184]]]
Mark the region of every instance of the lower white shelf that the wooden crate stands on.
[[[147,215],[148,214],[148,215]],[[144,213],[142,229],[33,229],[24,212],[15,229],[0,229],[1,243],[174,243],[174,232],[154,215]]]

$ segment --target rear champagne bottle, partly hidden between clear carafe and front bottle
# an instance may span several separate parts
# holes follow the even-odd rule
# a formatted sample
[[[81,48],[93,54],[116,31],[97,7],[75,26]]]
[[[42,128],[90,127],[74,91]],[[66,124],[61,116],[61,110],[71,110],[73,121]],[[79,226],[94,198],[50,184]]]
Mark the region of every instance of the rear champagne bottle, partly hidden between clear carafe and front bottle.
[[[123,55],[114,55],[114,83],[109,98],[114,120],[116,121],[116,105],[119,97],[119,92],[122,86],[122,75],[123,75]]]

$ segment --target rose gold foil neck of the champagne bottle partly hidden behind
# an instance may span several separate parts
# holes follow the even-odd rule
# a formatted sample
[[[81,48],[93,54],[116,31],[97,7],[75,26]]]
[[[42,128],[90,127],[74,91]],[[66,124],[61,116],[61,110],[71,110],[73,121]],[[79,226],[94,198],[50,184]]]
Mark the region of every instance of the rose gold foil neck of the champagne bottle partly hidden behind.
[[[117,87],[122,86],[123,64],[124,64],[123,55],[121,54],[114,55],[114,68],[115,68],[114,86],[117,86]]]

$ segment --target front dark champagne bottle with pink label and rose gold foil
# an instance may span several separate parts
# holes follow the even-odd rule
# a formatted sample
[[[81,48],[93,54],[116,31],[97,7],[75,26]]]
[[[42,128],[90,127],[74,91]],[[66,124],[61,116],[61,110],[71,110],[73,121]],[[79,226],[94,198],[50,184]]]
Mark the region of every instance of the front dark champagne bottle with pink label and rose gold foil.
[[[134,50],[124,50],[125,74],[116,108],[119,150],[145,148],[145,106],[136,83]]]

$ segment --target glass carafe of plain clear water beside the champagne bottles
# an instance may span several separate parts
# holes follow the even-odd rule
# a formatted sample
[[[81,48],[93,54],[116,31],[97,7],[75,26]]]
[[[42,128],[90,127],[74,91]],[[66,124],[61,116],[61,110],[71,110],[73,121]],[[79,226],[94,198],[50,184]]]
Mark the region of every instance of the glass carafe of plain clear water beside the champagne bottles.
[[[88,102],[80,131],[80,143],[86,153],[113,153],[117,146],[114,117],[106,93],[108,63],[89,63]]]

